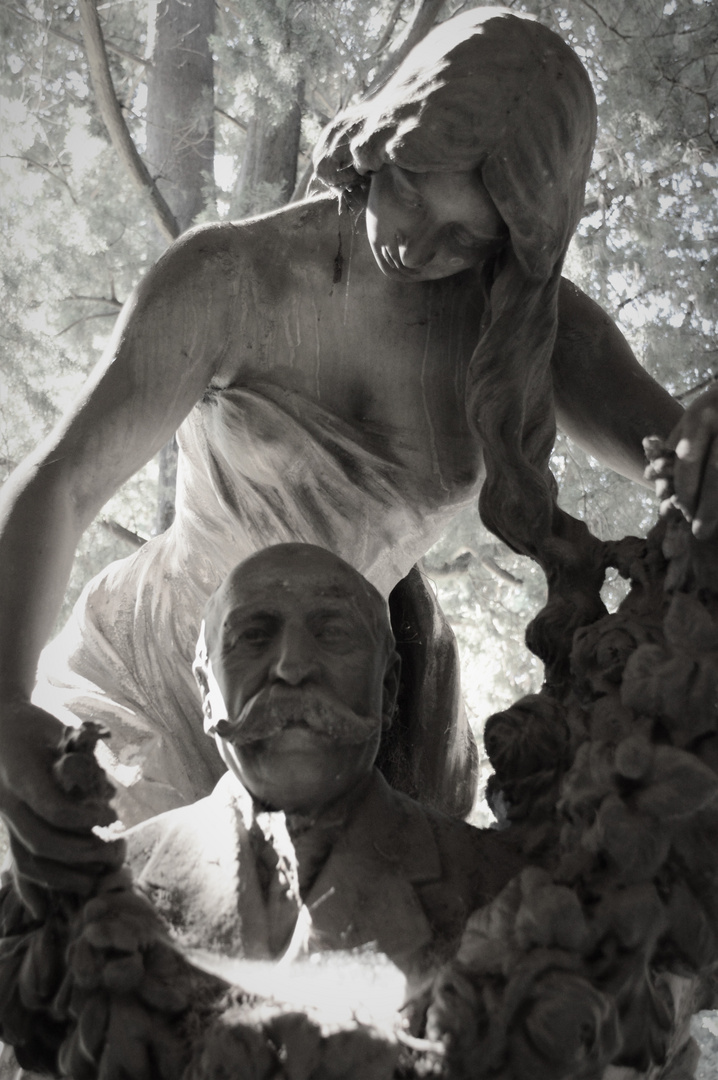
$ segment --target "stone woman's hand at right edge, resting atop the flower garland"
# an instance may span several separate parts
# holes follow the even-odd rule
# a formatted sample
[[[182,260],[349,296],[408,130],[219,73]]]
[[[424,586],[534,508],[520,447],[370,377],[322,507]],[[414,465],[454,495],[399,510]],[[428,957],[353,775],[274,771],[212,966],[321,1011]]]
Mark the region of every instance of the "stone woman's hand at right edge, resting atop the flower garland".
[[[682,511],[693,536],[707,540],[718,534],[718,387],[686,409],[668,447],[675,450],[669,480],[662,478],[660,468],[653,465],[647,476],[659,480],[659,495]]]

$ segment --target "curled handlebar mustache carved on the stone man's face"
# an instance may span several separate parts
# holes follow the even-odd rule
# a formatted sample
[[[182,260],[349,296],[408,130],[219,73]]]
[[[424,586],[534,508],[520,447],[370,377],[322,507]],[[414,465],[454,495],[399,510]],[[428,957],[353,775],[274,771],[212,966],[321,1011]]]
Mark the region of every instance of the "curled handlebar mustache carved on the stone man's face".
[[[366,742],[380,724],[380,717],[361,716],[315,687],[270,688],[250,698],[235,720],[218,720],[214,730],[221,739],[241,746],[271,739],[285,728],[304,725],[333,742],[351,745]]]

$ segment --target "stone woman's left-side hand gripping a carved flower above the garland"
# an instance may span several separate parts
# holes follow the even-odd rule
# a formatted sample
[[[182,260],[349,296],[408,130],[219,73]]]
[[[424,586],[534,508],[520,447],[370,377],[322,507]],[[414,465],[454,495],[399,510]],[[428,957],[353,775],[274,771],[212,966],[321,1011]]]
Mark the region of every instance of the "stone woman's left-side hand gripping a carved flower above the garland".
[[[94,758],[87,770],[87,740],[83,745],[78,732],[68,746],[67,732],[59,720],[29,702],[3,706],[0,813],[21,878],[86,894],[100,874],[122,862],[124,846],[92,832],[116,820],[109,804],[113,789]]]

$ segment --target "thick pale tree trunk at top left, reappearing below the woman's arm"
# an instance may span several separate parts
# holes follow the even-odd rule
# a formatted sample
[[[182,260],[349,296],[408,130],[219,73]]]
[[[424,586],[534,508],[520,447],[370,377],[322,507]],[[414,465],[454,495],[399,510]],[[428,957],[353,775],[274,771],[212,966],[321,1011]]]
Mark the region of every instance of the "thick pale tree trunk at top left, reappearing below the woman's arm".
[[[214,0],[153,0],[148,25],[147,160],[180,232],[207,201],[214,179]],[[209,197],[211,198],[211,197]],[[175,516],[177,444],[159,456],[155,531]]]

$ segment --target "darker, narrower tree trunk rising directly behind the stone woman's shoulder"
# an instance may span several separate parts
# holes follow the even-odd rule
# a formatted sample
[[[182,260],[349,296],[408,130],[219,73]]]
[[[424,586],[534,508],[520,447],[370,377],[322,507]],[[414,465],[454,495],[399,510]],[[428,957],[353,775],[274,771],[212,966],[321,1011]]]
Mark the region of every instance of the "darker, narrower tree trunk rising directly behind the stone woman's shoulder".
[[[274,210],[292,198],[297,183],[303,98],[304,81],[300,79],[279,120],[275,109],[257,98],[234,189],[232,211],[239,216]]]

